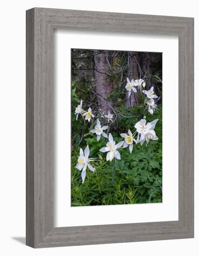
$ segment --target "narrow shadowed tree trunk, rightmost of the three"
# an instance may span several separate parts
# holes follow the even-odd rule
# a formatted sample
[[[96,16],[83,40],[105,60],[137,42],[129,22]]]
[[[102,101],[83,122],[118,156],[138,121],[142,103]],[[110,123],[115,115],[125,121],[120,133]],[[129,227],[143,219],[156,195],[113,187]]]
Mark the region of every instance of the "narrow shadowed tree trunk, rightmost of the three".
[[[146,78],[146,90],[149,90],[152,85],[152,68],[151,68],[151,53],[148,52],[141,52],[140,58],[142,62],[142,72],[147,72],[147,78]]]

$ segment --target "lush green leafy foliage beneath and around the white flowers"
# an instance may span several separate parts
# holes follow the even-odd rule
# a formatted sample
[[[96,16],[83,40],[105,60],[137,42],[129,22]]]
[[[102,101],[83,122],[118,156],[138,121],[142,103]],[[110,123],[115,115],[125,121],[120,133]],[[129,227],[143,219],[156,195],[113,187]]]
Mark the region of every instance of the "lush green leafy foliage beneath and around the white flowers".
[[[75,94],[73,95],[73,98]],[[80,101],[79,101],[80,102]],[[134,124],[143,115],[146,115],[147,122],[159,119],[155,132],[159,137],[158,141],[133,144],[133,152],[130,154],[128,148],[119,149],[121,160],[106,162],[106,154],[99,152],[99,149],[106,146],[107,140],[101,136],[97,141],[96,135],[89,133],[94,124],[84,124],[82,117],[75,120],[72,114],[73,133],[81,131],[84,135],[78,134],[74,138],[72,147],[72,177],[71,195],[72,206],[86,205],[110,205],[110,204],[132,204],[162,202],[162,109],[161,106],[153,115],[144,112],[144,106],[136,106],[126,109],[119,108],[124,115],[134,115],[137,117],[119,117],[119,128],[127,132],[128,128],[133,130]],[[73,112],[74,113],[74,112]],[[141,117],[140,117],[141,115]],[[74,122],[75,121],[75,122]],[[113,131],[112,135],[116,143],[122,141],[120,131]],[[78,143],[80,145],[76,146]],[[80,147],[89,145],[89,157],[100,157],[100,161],[92,162],[96,168],[95,172],[86,170],[86,179],[82,184],[81,171],[75,168],[80,152]]]

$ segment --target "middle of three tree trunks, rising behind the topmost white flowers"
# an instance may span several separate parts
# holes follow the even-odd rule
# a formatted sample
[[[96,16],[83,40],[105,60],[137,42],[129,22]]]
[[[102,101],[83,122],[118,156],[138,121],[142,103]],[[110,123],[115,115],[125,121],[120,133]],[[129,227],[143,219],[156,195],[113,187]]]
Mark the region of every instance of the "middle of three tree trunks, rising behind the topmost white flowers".
[[[138,60],[138,54],[129,52],[128,53],[128,71],[127,71],[127,77],[131,81],[132,79],[136,80],[138,79],[138,64],[134,58],[134,56]],[[135,105],[138,105],[138,93],[134,93],[131,91],[131,95],[128,97],[128,94],[126,94],[126,107],[130,108]]]

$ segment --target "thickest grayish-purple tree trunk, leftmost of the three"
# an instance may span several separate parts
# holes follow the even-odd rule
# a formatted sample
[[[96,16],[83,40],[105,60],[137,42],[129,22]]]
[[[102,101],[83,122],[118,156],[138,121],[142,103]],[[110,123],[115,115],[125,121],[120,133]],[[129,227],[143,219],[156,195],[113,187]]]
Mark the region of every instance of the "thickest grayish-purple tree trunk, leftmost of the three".
[[[111,75],[108,75],[109,64],[111,65],[111,52],[96,52],[94,54],[94,74],[96,81],[96,93],[98,94],[99,108],[106,114],[112,112],[113,102],[107,101],[108,95],[112,92]]]

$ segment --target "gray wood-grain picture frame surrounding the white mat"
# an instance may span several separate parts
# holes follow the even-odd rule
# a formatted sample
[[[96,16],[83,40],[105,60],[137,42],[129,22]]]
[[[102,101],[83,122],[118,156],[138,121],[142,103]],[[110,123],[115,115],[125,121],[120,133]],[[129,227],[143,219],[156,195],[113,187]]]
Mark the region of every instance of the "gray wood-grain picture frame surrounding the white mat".
[[[53,227],[53,29],[179,36],[178,221]],[[193,206],[193,18],[27,10],[27,245],[43,248],[192,238]]]

